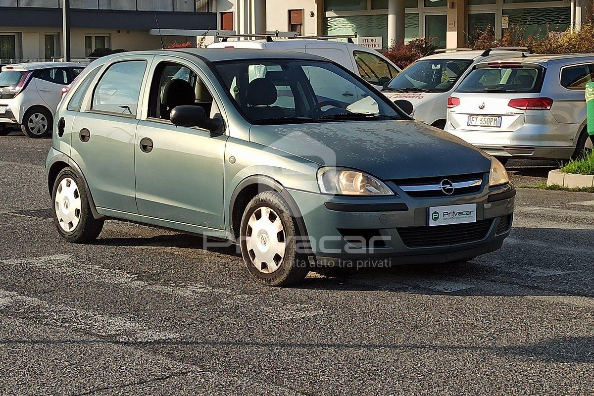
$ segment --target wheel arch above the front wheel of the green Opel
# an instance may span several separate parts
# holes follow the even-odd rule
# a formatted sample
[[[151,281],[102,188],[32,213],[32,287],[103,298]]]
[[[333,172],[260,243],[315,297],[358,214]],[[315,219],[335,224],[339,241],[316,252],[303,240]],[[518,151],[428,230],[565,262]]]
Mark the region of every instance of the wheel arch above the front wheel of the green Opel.
[[[301,210],[299,210],[297,202],[295,202],[289,191],[280,182],[270,178],[270,176],[253,175],[241,180],[231,195],[229,202],[229,230],[233,238],[237,240],[239,237],[241,217],[249,201],[263,191],[276,191],[285,199],[292,212],[291,215],[295,218],[297,232],[300,236],[307,236]]]

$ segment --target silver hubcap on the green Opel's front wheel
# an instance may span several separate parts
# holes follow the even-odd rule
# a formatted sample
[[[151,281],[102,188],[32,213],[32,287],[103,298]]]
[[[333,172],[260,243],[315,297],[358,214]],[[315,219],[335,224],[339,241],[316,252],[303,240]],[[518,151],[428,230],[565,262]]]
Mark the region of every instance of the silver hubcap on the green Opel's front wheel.
[[[285,258],[285,227],[279,215],[266,206],[257,208],[248,220],[245,243],[258,271],[271,274]]]

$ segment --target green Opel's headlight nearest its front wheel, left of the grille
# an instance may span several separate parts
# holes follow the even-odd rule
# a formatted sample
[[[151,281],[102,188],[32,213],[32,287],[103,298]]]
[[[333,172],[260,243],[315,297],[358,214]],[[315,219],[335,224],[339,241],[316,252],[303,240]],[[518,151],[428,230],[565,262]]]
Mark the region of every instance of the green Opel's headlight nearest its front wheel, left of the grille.
[[[394,195],[384,182],[358,170],[324,167],[318,170],[318,185],[323,194]]]

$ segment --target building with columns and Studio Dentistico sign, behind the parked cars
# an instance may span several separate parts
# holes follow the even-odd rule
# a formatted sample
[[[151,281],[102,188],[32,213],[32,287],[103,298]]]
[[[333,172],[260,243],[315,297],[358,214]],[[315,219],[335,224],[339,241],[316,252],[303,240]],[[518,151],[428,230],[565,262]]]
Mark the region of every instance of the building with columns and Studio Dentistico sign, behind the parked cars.
[[[472,44],[478,32],[496,37],[513,26],[525,36],[579,28],[592,0],[217,0],[221,30],[255,33],[299,30],[304,34],[382,37],[383,47],[431,37],[440,47]],[[244,13],[248,10],[251,17]],[[260,17],[254,17],[260,15]],[[266,20],[266,27],[249,21]],[[244,21],[244,22],[242,22]]]

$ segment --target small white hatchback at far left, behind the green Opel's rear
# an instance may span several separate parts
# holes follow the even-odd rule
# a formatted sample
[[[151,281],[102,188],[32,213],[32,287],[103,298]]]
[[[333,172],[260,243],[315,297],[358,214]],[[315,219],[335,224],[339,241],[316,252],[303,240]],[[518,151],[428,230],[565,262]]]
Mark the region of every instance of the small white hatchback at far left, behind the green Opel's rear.
[[[66,62],[3,66],[0,71],[0,135],[7,135],[18,126],[30,138],[49,135],[62,88],[83,68],[83,65]]]

